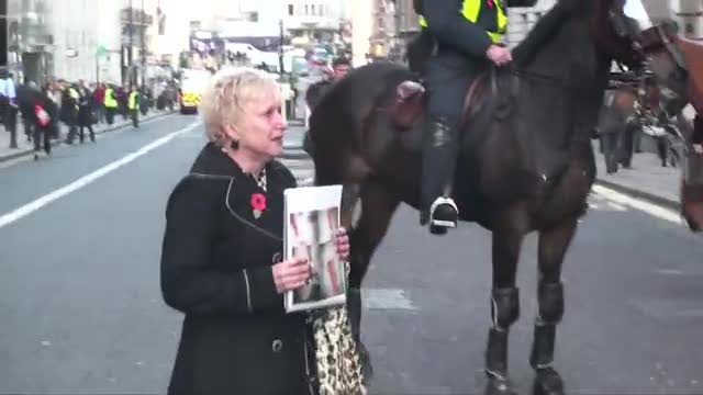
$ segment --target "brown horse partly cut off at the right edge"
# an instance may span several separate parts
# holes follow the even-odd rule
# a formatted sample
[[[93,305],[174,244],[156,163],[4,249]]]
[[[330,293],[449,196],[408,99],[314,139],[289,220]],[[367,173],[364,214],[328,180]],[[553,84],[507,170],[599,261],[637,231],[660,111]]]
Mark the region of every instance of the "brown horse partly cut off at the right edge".
[[[639,36],[641,52],[659,86],[670,94],[665,108],[678,114],[679,131],[687,140],[681,179],[681,216],[693,232],[703,232],[703,156],[692,149],[692,143],[703,134],[683,120],[681,111],[691,104],[698,124],[703,116],[703,45],[678,34],[673,23],[652,26]]]

